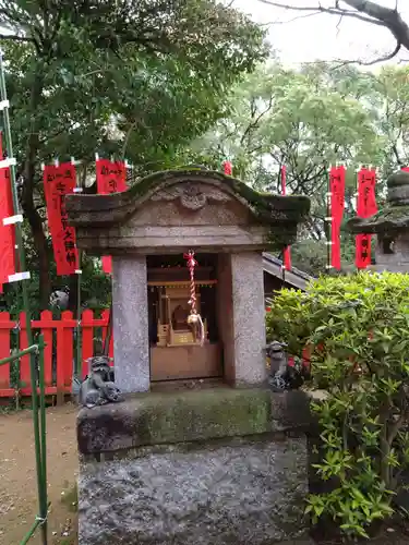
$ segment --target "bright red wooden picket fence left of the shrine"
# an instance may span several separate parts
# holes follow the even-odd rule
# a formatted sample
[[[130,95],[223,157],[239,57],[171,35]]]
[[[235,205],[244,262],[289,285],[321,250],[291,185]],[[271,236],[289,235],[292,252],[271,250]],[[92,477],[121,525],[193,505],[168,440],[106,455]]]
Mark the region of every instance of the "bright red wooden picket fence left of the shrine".
[[[86,360],[94,355],[94,340],[99,331],[104,342],[107,334],[109,312],[105,311],[101,317],[95,317],[93,311],[84,311],[81,317],[80,342],[82,356],[82,376],[88,372]],[[74,353],[74,331],[77,326],[72,312],[67,311],[61,314],[60,319],[53,319],[50,311],[44,311],[40,319],[33,320],[34,332],[40,331],[44,335],[46,349],[44,353],[44,375],[46,383],[46,393],[70,393],[73,374]],[[16,330],[19,347],[13,347],[12,335]],[[11,355],[11,349],[28,348],[27,331],[25,327],[25,314],[20,315],[20,319],[11,319],[7,312],[0,313],[0,360]],[[111,339],[109,355],[113,355],[113,343]],[[0,398],[15,396],[15,387],[12,387],[10,376],[11,364],[0,365]],[[20,360],[20,392],[22,396],[29,396],[31,374],[29,355]]]

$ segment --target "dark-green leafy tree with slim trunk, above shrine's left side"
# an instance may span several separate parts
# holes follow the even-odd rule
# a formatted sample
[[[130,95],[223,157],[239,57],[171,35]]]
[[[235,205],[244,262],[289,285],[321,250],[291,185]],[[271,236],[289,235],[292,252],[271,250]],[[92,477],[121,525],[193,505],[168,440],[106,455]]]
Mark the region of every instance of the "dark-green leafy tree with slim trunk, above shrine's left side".
[[[21,202],[51,290],[41,161],[124,155],[169,164],[225,108],[226,88],[266,55],[264,33],[214,0],[0,0]]]

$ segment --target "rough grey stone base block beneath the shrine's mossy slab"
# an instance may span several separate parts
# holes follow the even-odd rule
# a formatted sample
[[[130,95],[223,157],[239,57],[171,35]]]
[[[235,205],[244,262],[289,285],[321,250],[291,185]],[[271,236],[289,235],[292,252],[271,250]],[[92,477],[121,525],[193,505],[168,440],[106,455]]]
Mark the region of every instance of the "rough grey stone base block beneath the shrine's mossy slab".
[[[270,545],[303,534],[305,440],[82,464],[80,545]]]

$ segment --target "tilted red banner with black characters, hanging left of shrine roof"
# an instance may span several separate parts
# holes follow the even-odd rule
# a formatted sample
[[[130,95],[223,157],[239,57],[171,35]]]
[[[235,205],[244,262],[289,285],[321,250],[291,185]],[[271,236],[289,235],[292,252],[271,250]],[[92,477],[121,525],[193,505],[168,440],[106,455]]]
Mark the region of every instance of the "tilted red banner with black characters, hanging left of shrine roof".
[[[44,168],[48,228],[51,234],[57,275],[73,275],[79,268],[75,230],[68,225],[65,195],[75,187],[75,167],[71,162]]]

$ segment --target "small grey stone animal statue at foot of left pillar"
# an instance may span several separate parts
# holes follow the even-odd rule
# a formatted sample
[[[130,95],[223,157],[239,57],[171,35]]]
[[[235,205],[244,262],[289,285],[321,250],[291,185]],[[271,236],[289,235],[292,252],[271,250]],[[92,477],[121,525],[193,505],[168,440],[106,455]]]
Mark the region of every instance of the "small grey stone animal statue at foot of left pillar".
[[[92,408],[122,401],[122,393],[113,383],[113,372],[109,366],[109,358],[97,355],[87,361],[89,375],[81,385],[80,403]]]

